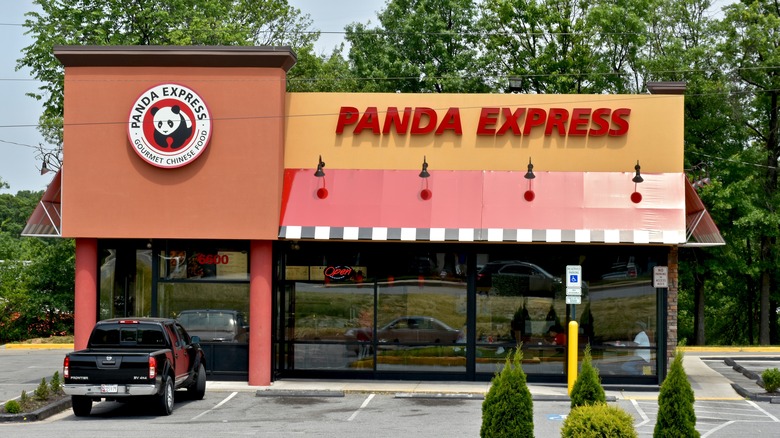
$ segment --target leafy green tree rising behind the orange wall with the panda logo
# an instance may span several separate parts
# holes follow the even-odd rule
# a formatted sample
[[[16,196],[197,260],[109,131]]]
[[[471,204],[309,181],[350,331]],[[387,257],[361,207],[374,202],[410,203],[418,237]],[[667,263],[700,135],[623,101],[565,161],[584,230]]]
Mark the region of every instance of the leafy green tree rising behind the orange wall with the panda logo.
[[[39,130],[62,145],[63,67],[55,45],[290,45],[311,47],[308,15],[287,0],[35,0],[24,25],[34,43],[22,50],[42,85],[30,96],[43,101]]]

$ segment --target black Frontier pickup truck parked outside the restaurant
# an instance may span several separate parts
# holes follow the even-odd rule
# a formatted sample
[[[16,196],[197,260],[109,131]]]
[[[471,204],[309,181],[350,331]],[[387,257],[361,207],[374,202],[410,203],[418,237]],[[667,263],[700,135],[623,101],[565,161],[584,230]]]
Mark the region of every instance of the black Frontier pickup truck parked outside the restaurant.
[[[173,393],[186,388],[200,400],[206,393],[206,363],[197,336],[174,319],[116,318],[100,321],[87,348],[63,363],[63,389],[73,413],[87,416],[92,402],[146,397],[161,415],[173,411]]]

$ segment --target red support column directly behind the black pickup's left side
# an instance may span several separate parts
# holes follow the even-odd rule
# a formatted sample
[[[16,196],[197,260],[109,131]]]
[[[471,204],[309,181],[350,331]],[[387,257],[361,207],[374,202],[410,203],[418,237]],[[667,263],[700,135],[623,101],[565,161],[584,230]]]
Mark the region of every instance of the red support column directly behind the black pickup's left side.
[[[97,239],[76,239],[76,290],[73,343],[76,350],[87,347],[97,322]]]

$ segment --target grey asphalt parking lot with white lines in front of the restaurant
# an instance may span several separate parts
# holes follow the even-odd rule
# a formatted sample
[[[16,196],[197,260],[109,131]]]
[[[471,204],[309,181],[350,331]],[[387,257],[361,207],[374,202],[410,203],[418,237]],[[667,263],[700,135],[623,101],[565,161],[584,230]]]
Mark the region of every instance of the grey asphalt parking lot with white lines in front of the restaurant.
[[[34,391],[42,377],[47,379],[60,371],[64,350],[6,350],[0,348],[0,400],[17,397],[21,390]],[[711,375],[719,380],[738,378],[733,368],[722,359],[700,360]],[[776,364],[774,361],[750,360],[742,363],[757,369]],[[731,371],[729,371],[731,370]],[[730,372],[736,374],[730,375]],[[704,373],[702,373],[704,374]],[[690,377],[690,376],[689,376]],[[693,376],[692,386],[713,386],[701,376]],[[446,391],[441,393],[396,392],[398,383],[387,386],[366,386],[364,391],[321,391],[319,395],[300,391],[276,391],[234,384],[209,382],[204,400],[187,400],[177,394],[171,416],[158,417],[145,404],[103,402],[95,404],[88,418],[77,418],[66,410],[47,419],[29,423],[0,423],[3,437],[98,436],[136,437],[153,428],[156,435],[189,436],[377,436],[399,435],[427,437],[477,437],[481,425],[484,386],[473,386],[470,394]],[[290,384],[290,382],[287,382]],[[317,387],[318,382],[305,382]],[[324,385],[325,382],[319,382]],[[302,385],[302,384],[301,384]],[[289,387],[296,386],[295,382]],[[417,385],[421,388],[422,385]],[[449,388],[456,388],[450,385]],[[561,385],[532,385],[534,394],[534,428],[538,437],[560,436],[569,403],[559,396],[565,393]],[[721,389],[726,391],[726,389]],[[293,396],[297,394],[297,396]],[[301,396],[301,394],[306,396]],[[262,396],[260,396],[262,395]],[[547,395],[547,396],[545,396]],[[624,392],[608,390],[612,403],[629,412],[635,419],[640,436],[651,436],[658,412],[657,391]],[[709,394],[708,394],[709,395]],[[780,436],[780,404],[746,400],[731,390],[716,396],[698,397],[695,403],[697,429],[703,437]],[[724,397],[720,397],[723,395]]]

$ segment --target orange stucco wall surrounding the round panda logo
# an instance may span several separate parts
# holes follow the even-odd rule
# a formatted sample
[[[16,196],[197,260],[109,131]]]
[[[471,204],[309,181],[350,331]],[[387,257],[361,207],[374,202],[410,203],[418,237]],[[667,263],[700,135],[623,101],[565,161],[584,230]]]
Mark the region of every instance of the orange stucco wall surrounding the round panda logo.
[[[62,234],[94,238],[276,239],[285,72],[279,68],[66,67]],[[175,169],[132,149],[135,100],[161,83],[197,92],[207,150]]]

